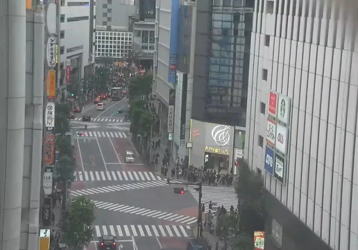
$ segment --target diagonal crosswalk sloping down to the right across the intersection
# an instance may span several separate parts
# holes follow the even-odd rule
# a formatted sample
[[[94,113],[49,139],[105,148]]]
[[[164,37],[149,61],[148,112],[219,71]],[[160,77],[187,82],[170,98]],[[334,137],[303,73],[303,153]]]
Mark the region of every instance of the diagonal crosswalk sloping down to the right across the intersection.
[[[176,215],[173,213],[167,213],[163,211],[151,210],[146,208],[137,208],[133,206],[125,206],[121,204],[115,204],[110,202],[104,201],[92,201],[96,208],[103,209],[103,210],[112,210],[121,213],[130,213],[133,215],[142,215],[146,217],[152,217],[157,219],[165,219],[169,220],[170,222],[178,222],[182,224],[193,224],[196,223],[196,217],[190,217],[186,215]]]

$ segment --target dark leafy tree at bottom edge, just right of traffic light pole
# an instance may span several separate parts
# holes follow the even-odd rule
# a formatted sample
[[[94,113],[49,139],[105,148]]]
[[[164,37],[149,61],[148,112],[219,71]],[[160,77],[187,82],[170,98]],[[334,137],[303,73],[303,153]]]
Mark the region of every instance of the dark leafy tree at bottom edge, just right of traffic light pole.
[[[223,250],[253,250],[253,238],[240,233],[239,217],[230,213],[220,215],[216,224],[216,235],[224,243]]]

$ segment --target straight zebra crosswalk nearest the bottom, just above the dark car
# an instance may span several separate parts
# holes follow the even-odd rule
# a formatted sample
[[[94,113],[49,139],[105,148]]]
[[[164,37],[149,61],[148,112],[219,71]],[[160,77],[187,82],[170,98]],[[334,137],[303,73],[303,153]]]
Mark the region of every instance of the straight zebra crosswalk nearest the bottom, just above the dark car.
[[[177,225],[108,225],[94,226],[96,237],[103,235],[123,236],[142,236],[142,237],[191,237],[190,226]]]

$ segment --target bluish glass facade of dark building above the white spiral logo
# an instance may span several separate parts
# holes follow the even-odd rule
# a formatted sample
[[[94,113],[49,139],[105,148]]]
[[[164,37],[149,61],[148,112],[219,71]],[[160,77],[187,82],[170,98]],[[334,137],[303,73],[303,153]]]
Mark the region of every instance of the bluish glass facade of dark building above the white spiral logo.
[[[245,126],[253,10],[238,6],[244,1],[230,0],[231,6],[232,1],[241,8],[229,12],[213,6],[207,117]]]

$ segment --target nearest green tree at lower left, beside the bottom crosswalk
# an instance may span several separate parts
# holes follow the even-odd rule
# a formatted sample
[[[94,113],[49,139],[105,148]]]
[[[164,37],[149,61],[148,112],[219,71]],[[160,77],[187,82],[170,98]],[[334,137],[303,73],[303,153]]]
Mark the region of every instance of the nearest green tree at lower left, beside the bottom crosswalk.
[[[73,199],[69,209],[62,213],[62,239],[69,249],[80,250],[93,238],[94,203],[84,196]]]

